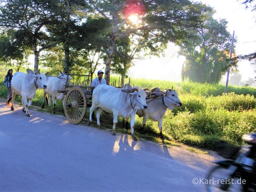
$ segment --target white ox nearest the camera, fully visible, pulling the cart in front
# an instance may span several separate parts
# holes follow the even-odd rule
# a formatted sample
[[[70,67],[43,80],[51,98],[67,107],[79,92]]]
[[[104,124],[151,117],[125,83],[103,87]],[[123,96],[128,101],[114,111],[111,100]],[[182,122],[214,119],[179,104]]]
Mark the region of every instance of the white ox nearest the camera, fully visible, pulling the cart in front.
[[[124,91],[124,90],[123,90]],[[146,93],[143,89],[137,89],[132,93],[123,92],[121,89],[100,84],[92,93],[92,107],[90,108],[90,119],[88,125],[92,122],[92,112],[99,107],[96,113],[98,128],[100,126],[100,114],[105,110],[113,113],[112,135],[116,135],[117,117],[131,118],[132,139],[137,140],[134,135],[135,113],[137,109],[146,109]]]

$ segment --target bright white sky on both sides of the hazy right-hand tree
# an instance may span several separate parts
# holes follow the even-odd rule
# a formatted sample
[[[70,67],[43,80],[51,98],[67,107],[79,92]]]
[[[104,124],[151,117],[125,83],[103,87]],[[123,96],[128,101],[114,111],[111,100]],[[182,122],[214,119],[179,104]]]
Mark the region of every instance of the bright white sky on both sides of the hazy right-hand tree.
[[[250,9],[245,10],[245,6],[236,0],[201,0],[202,3],[214,7],[215,19],[221,18],[228,21],[228,31],[237,37],[236,54],[248,54],[256,50],[256,12]],[[134,78],[165,79],[170,81],[181,81],[181,66],[185,58],[177,57],[178,48],[170,44],[165,51],[165,58],[151,57],[137,61],[136,66],[128,71],[128,76]],[[256,65],[251,65],[249,61],[242,61],[238,64],[242,81],[248,77],[253,78],[256,74]],[[227,77],[223,77],[225,80]]]

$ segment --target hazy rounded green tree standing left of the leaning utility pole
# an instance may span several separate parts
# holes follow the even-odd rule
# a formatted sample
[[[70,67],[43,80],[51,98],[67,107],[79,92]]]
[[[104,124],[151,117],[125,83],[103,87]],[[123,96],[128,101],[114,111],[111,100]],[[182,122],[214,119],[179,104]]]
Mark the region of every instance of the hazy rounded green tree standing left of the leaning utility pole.
[[[193,31],[194,37],[179,43],[179,54],[186,57],[182,66],[182,80],[200,83],[219,83],[227,72],[231,34],[225,19],[215,20],[214,12]]]

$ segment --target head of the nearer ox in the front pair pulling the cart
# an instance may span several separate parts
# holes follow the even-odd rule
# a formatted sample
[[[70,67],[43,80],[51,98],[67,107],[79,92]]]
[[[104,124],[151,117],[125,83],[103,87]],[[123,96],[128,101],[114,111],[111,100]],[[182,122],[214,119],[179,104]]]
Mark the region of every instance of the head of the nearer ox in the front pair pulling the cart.
[[[132,106],[137,109],[146,109],[148,105],[146,103],[146,93],[143,89],[133,88],[134,92],[128,92],[127,94],[134,97],[134,100],[131,100]]]

